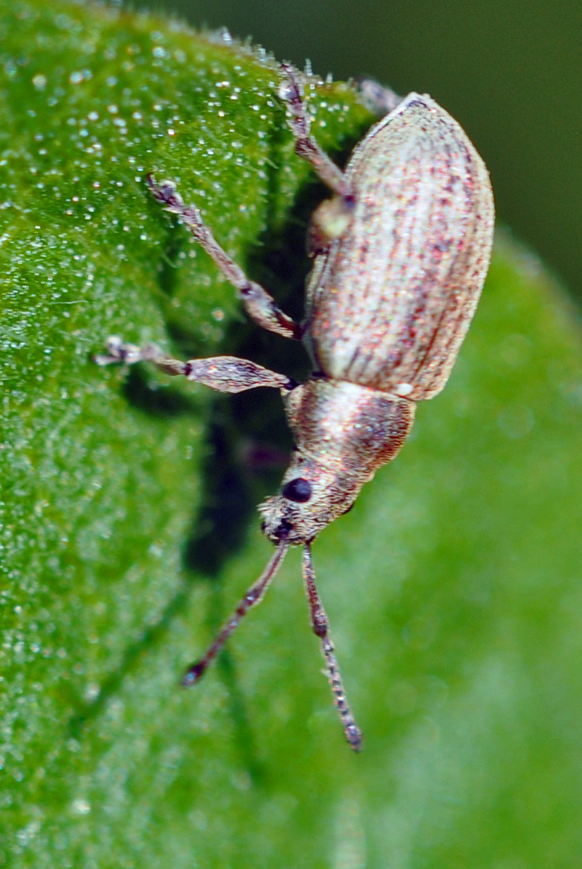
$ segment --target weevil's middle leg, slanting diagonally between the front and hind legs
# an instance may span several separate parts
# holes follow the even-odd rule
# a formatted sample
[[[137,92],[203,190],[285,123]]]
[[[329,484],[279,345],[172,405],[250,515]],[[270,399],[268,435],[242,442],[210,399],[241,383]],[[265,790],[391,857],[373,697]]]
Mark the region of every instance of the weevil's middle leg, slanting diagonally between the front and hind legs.
[[[175,189],[175,184],[171,181],[157,184],[151,175],[148,176],[147,181],[155,200],[160,202],[166,211],[177,215],[183,223],[187,224],[196,241],[213,258],[222,274],[238,291],[248,316],[269,332],[276,332],[277,335],[283,335],[285,338],[301,338],[299,323],[294,322],[287,314],[283,314],[281,308],[275,304],[273,296],[261,287],[261,284],[248,279],[241,267],[237,266],[221,248],[208,226],[202,221],[200,211],[195,205],[184,204],[182,196]]]

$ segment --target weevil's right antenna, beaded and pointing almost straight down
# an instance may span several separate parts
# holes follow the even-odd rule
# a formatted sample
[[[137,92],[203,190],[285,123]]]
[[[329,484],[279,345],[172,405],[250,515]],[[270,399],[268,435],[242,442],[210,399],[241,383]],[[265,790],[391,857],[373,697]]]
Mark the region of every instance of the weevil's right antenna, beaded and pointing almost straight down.
[[[311,627],[314,633],[321,640],[321,652],[327,664],[327,679],[334,695],[334,703],[340,713],[343,732],[346,734],[346,739],[354,752],[359,752],[361,748],[361,730],[355,723],[354,715],[351,713],[347,703],[346,692],[341,681],[340,665],[335,657],[334,644],[329,636],[329,622],[327,614],[321,603],[321,597],[315,587],[315,572],[314,562],[311,558],[311,548],[306,543],[303,547],[303,581],[305,582],[305,593],[308,596],[309,613],[311,614]]]

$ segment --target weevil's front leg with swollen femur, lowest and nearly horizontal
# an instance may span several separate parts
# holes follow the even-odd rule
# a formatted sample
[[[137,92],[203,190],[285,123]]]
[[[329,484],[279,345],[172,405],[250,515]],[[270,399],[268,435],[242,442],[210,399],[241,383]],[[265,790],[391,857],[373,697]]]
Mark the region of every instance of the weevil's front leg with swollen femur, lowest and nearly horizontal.
[[[209,359],[190,359],[182,362],[165,356],[160,348],[150,344],[139,348],[136,344],[125,344],[117,335],[107,342],[108,355],[96,355],[97,365],[110,365],[112,362],[152,362],[156,368],[167,375],[183,375],[189,381],[204,383],[218,392],[243,392],[260,386],[270,386],[289,392],[297,383],[286,375],[262,368],[256,362],[239,359],[237,356],[213,356]]]

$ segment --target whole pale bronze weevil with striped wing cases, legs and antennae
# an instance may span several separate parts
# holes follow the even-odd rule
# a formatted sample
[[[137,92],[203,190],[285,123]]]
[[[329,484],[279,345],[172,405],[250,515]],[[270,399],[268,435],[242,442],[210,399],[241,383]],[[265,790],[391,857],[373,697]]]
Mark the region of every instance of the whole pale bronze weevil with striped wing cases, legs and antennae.
[[[311,623],[349,744],[361,732],[347,704],[329,626],[315,587],[311,543],[354,503],[380,465],[394,459],[413,424],[415,402],[445,386],[485,282],[493,243],[493,194],[485,164],[460,125],[428,96],[410,94],[356,146],[342,172],[309,135],[296,71],[280,88],[296,152],[334,192],[309,233],[314,267],[307,314],[293,322],[215,241],[170,182],[149,177],[155,199],[188,224],[263,328],[301,339],[313,375],[285,375],[233,356],[170,359],[155,347],[110,338],[109,362],[145,360],[170,375],[222,392],[281,390],[296,448],[281,491],[261,504],[275,544],[263,574],[182,684],[200,679],[250,607],[259,603],[290,545],[303,547]]]

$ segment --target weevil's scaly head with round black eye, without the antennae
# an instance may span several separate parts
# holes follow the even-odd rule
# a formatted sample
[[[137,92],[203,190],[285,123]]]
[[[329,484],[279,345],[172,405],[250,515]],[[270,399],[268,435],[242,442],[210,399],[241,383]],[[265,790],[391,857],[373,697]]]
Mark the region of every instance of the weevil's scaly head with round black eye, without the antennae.
[[[295,453],[280,493],[259,507],[263,533],[274,543],[313,541],[322,528],[352,507],[361,482]]]

